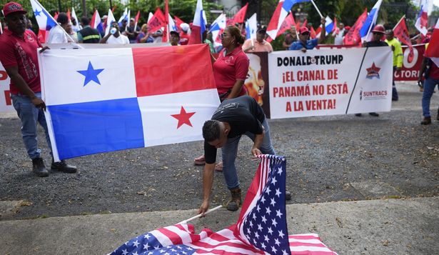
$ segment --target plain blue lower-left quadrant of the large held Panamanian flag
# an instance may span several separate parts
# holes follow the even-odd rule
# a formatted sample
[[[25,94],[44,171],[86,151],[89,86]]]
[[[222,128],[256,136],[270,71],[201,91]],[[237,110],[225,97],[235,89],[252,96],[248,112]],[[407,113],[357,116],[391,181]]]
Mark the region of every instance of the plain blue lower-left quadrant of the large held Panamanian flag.
[[[145,144],[137,98],[47,108],[61,159],[138,148]]]

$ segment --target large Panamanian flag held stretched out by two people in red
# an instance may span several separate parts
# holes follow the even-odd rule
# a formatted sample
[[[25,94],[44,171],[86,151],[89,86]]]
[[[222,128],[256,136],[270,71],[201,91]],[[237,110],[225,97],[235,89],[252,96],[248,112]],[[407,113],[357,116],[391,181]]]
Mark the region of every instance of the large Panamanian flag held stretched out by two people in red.
[[[201,140],[220,101],[208,46],[39,54],[54,159]]]

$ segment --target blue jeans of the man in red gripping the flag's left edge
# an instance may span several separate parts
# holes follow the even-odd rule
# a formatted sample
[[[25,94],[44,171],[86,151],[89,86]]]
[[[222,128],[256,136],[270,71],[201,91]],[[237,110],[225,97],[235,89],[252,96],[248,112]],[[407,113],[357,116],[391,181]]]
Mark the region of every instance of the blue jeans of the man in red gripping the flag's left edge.
[[[41,98],[41,93],[35,96]],[[11,94],[12,104],[21,120],[21,136],[24,146],[26,146],[27,154],[31,159],[40,157],[41,150],[38,148],[38,138],[36,137],[37,124],[40,124],[46,133],[46,141],[51,149],[49,132],[47,131],[46,117],[44,111],[36,108],[32,104],[31,99],[23,95]]]

